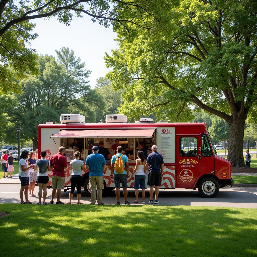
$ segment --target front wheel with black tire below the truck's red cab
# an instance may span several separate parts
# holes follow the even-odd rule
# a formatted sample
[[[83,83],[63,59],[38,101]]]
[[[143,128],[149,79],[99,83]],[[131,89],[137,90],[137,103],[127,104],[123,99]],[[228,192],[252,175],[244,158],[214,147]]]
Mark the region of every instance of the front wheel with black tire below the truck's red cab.
[[[215,197],[219,192],[219,183],[215,178],[203,178],[198,183],[198,191],[203,197]]]

